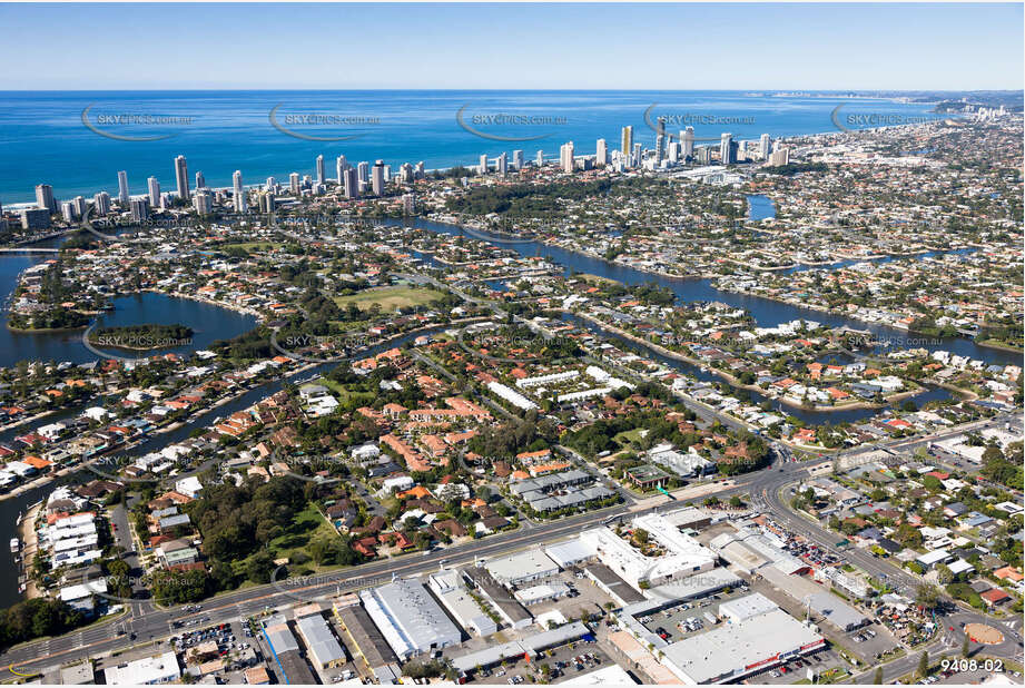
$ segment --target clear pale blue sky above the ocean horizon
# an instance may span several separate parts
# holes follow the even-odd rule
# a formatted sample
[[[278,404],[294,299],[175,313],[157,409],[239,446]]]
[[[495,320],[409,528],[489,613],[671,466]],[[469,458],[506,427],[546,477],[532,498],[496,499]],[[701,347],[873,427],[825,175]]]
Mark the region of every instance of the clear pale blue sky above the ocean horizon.
[[[1023,88],[1023,4],[0,4],[2,90]]]

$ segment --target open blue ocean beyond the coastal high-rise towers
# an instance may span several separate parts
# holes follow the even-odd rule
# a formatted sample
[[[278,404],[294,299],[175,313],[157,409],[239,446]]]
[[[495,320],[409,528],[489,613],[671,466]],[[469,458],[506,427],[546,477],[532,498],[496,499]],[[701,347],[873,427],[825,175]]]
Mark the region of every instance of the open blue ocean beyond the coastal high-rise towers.
[[[711,145],[725,131],[741,140],[828,132],[837,130],[837,106],[851,128],[849,116],[857,115],[935,117],[927,104],[825,94],[0,91],[0,203],[33,202],[37,184],[50,184],[59,199],[98,190],[116,196],[121,169],[132,194],[147,191],[149,176],[173,190],[178,155],[188,159],[190,186],[200,170],[208,186],[229,186],[236,169],[255,185],[270,176],[287,181],[293,171],[315,177],[317,155],[328,178],[338,155],[351,163],[383,159],[393,169],[421,160],[427,169],[472,166],[482,154],[494,158],[515,149],[528,160],[538,150],[558,159],[559,147],[571,140],[587,155],[599,138],[618,149],[625,125],[633,126],[634,141],[652,147],[660,116],[669,134],[689,124]]]

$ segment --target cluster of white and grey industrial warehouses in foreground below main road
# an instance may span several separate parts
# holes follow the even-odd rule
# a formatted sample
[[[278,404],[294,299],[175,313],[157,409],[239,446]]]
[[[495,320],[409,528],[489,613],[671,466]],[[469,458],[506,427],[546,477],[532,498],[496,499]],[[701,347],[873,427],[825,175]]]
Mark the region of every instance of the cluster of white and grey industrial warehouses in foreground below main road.
[[[868,622],[769,523],[694,507],[619,517],[572,538],[270,612],[253,681],[726,684],[841,660],[829,638]],[[845,589],[846,589],[845,588]],[[203,667],[213,667],[207,662]],[[167,662],[126,664],[148,677]],[[189,668],[203,676],[207,669]],[[543,669],[542,669],[543,667]],[[175,666],[168,669],[168,676]],[[198,671],[198,674],[197,674]],[[109,681],[112,682],[112,681]]]

